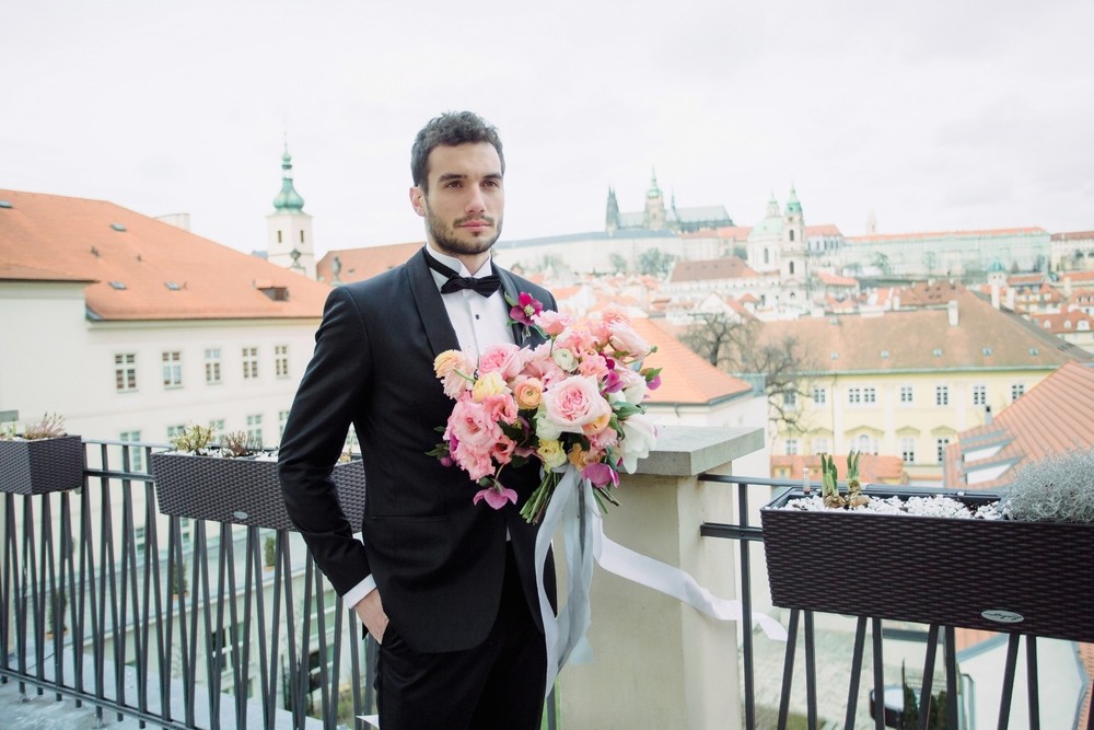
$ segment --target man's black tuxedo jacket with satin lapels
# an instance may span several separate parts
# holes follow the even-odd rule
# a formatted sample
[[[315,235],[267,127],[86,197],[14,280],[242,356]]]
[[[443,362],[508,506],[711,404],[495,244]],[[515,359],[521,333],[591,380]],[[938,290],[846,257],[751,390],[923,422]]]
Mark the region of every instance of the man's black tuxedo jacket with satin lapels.
[[[537,624],[536,526],[517,513],[539,483],[535,463],[502,472],[517,505],[473,505],[480,487],[427,451],[440,440],[454,402],[433,359],[459,349],[426,253],[366,281],[330,292],[315,351],[286,424],[278,459],[286,507],[316,565],[346,593],[370,573],[392,625],[416,651],[480,644],[497,615],[507,529]],[[555,309],[550,292],[494,267],[504,291],[531,293]],[[505,313],[499,312],[499,316]],[[514,326],[514,341],[529,343]],[[350,525],[331,468],[352,424],[365,471],[364,523]],[[363,542],[353,536],[360,528]],[[548,556],[548,595],[554,563]],[[542,626],[540,626],[542,628]]]

